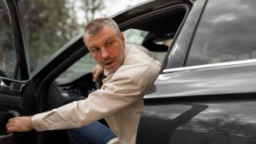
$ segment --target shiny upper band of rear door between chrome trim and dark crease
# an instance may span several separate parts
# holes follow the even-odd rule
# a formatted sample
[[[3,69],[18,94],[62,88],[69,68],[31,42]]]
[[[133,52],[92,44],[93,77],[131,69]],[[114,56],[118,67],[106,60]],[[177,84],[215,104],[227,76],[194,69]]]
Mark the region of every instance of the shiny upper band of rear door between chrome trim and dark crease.
[[[225,66],[178,69],[159,75],[152,97],[194,97],[255,93],[256,61]]]

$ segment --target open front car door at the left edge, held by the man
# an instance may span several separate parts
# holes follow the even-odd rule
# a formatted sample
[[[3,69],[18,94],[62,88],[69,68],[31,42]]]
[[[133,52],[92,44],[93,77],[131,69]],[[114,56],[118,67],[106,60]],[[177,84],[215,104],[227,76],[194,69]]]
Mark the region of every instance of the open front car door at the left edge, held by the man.
[[[25,40],[19,1],[0,0],[0,143],[15,143],[6,122],[24,112],[23,97],[29,85]],[[30,89],[33,90],[33,89]],[[30,92],[33,93],[33,92]]]

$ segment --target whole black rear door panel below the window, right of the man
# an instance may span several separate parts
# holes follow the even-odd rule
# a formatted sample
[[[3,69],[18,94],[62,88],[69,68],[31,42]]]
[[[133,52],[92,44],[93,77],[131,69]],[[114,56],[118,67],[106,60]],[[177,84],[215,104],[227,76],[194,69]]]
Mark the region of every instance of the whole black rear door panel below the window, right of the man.
[[[164,70],[144,98],[137,143],[254,141],[256,61],[238,63]]]

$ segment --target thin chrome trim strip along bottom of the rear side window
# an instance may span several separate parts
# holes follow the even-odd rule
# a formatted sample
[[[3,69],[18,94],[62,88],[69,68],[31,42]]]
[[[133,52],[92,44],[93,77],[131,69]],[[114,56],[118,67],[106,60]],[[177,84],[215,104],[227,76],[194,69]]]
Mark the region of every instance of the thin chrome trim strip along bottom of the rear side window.
[[[163,73],[172,73],[181,70],[193,70],[196,68],[212,68],[212,67],[222,67],[222,66],[230,66],[230,65],[237,65],[237,64],[245,64],[245,63],[256,63],[256,59],[252,60],[245,60],[245,61],[229,61],[229,62],[222,62],[222,63],[214,63],[214,64],[204,64],[199,66],[190,66],[190,67],[182,67],[182,68],[168,68],[164,69]]]

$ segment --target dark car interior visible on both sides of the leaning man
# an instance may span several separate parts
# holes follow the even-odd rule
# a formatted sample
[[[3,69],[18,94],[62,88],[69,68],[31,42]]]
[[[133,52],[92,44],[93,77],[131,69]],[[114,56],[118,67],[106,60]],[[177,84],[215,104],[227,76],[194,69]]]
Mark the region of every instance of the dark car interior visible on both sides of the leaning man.
[[[164,52],[166,53],[168,47],[163,41],[172,40],[175,36],[175,33],[179,29],[183,18],[186,16],[187,9],[186,7],[179,7],[172,11],[164,11],[163,13],[157,13],[155,15],[144,16],[143,19],[134,20],[132,24],[129,24],[126,27],[121,27],[122,31],[128,31],[128,29],[136,29],[143,32],[148,32],[145,36],[142,46],[148,48],[151,52]],[[133,19],[131,19],[133,20]],[[123,24],[122,24],[123,25]],[[52,83],[49,89],[48,95],[52,95],[56,90],[59,90],[59,94],[65,97],[62,104],[68,104],[74,100],[84,99],[94,91],[99,89],[100,81],[97,83],[92,82],[91,73],[85,74],[84,76],[79,76],[76,79],[71,80],[68,83],[57,83],[56,81]],[[69,96],[69,97],[68,97]],[[53,103],[52,99],[51,102]],[[56,103],[58,105],[58,103]],[[55,105],[55,104],[53,104]],[[55,107],[55,106],[54,106]]]

